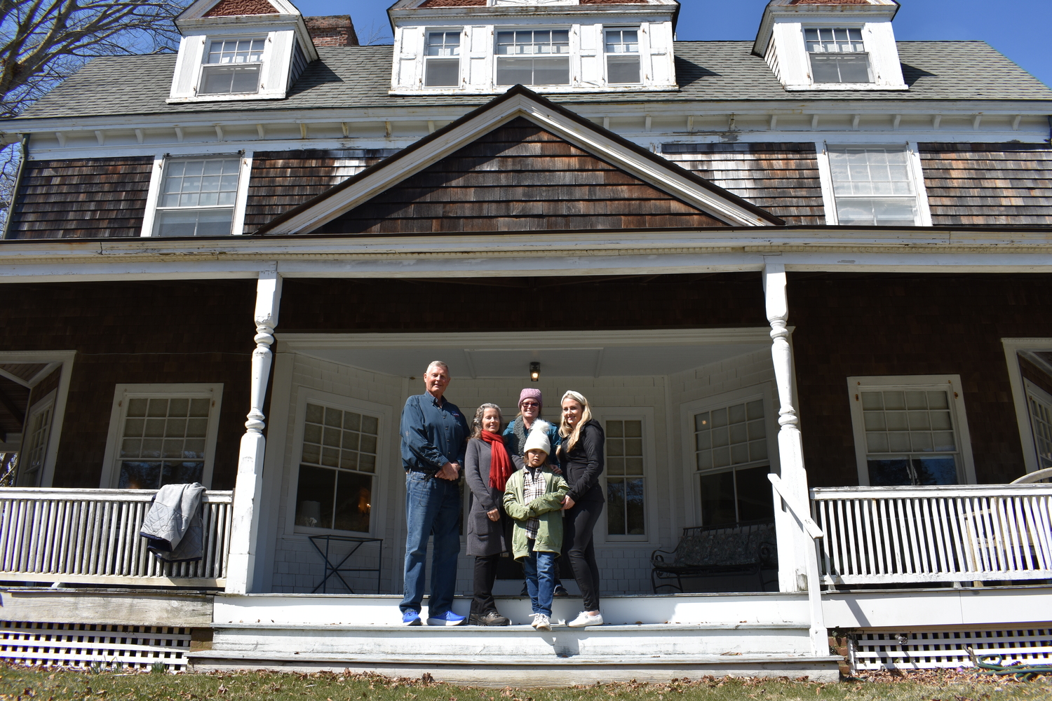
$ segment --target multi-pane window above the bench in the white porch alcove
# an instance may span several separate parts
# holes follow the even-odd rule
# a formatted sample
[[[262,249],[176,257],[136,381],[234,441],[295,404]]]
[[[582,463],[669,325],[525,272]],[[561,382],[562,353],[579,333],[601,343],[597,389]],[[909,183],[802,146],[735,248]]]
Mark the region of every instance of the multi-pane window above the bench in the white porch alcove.
[[[702,525],[773,519],[764,401],[694,414]]]

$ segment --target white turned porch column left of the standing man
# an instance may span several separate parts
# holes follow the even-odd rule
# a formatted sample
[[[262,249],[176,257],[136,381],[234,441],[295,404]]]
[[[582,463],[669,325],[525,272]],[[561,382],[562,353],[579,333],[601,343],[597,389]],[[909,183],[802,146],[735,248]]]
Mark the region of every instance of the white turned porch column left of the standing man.
[[[238,479],[234,489],[230,551],[226,566],[226,592],[247,594],[252,586],[256,568],[256,536],[259,527],[260,493],[263,486],[263,397],[266,396],[274,354],[274,329],[281,306],[281,275],[261,272],[256,287],[256,350],[252,351],[251,408],[245,421],[238,457]]]

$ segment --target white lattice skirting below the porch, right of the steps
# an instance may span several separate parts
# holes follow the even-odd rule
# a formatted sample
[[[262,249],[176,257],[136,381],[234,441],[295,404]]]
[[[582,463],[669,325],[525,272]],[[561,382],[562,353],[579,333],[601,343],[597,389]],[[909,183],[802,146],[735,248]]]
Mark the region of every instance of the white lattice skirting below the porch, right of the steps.
[[[863,631],[850,636],[852,672],[970,667],[976,655],[1002,655],[1002,664],[1052,664],[1052,623]]]

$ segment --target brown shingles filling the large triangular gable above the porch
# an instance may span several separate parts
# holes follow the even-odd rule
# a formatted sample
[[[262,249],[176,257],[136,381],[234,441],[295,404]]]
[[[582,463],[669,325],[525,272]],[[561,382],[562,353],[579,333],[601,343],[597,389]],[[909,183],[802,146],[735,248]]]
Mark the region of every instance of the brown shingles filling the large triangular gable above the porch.
[[[519,118],[329,222],[319,233],[726,226]]]

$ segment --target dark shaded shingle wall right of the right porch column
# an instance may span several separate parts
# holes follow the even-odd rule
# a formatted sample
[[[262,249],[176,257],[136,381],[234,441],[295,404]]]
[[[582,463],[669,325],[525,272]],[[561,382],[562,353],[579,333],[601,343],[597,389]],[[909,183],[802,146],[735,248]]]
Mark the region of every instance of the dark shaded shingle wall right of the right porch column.
[[[1050,282],[1043,274],[790,273],[811,486],[856,483],[847,387],[855,375],[960,375],[978,481],[1023,475],[1002,338],[1052,336]]]

